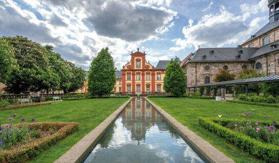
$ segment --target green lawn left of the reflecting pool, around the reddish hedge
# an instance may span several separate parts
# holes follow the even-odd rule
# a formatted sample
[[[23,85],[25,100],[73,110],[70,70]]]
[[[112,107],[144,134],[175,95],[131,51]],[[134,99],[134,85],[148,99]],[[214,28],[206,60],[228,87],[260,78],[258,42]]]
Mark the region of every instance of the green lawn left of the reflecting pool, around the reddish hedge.
[[[51,146],[48,150],[40,153],[30,162],[53,162],[66,153],[81,138],[109,117],[128,98],[95,98],[79,101],[53,102],[51,105],[19,108],[16,110],[0,111],[0,121],[6,123],[20,123],[21,118],[30,122],[78,122],[79,129],[65,140]],[[16,114],[16,118],[8,121],[9,117]]]

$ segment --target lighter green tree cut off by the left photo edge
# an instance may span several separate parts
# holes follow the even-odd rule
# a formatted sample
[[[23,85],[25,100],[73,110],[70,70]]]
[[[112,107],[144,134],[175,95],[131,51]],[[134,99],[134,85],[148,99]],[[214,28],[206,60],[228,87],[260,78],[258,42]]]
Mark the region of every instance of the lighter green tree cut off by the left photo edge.
[[[0,83],[6,83],[11,72],[16,71],[14,48],[6,40],[0,38]]]

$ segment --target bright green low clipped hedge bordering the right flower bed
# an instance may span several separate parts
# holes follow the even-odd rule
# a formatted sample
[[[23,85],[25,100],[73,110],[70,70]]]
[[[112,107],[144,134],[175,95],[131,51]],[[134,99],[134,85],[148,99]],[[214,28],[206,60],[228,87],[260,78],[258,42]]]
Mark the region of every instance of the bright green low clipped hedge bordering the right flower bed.
[[[218,122],[228,123],[230,121],[241,121],[240,119],[218,119],[215,118],[199,118],[199,124],[211,132],[217,133],[220,137],[225,138],[230,143],[239,146],[242,150],[249,152],[250,154],[260,158],[266,162],[279,162],[279,146],[269,144],[269,143],[262,143],[261,141],[257,141],[245,134],[233,131],[229,128],[226,128]],[[242,121],[251,121],[255,122],[255,120],[242,120]],[[260,122],[264,125],[272,124],[272,122]],[[278,125],[275,125],[278,127]]]

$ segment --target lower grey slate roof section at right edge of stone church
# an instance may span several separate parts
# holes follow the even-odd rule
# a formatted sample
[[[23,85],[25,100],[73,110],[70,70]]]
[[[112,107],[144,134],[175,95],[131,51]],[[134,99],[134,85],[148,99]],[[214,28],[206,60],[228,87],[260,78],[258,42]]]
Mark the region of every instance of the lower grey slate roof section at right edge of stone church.
[[[255,53],[251,56],[250,59],[260,57],[263,55],[267,55],[270,52],[278,51],[279,50],[279,40],[266,44],[255,51]],[[271,48],[274,46],[274,48]]]

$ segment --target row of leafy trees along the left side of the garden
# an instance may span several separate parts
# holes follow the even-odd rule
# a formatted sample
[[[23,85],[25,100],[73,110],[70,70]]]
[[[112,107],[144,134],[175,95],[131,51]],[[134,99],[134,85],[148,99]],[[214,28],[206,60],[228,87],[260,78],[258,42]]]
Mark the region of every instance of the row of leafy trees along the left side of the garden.
[[[6,92],[68,93],[83,87],[85,71],[63,60],[52,46],[41,46],[22,36],[2,37],[0,44],[0,65],[5,66],[0,67],[0,82],[6,85]]]

